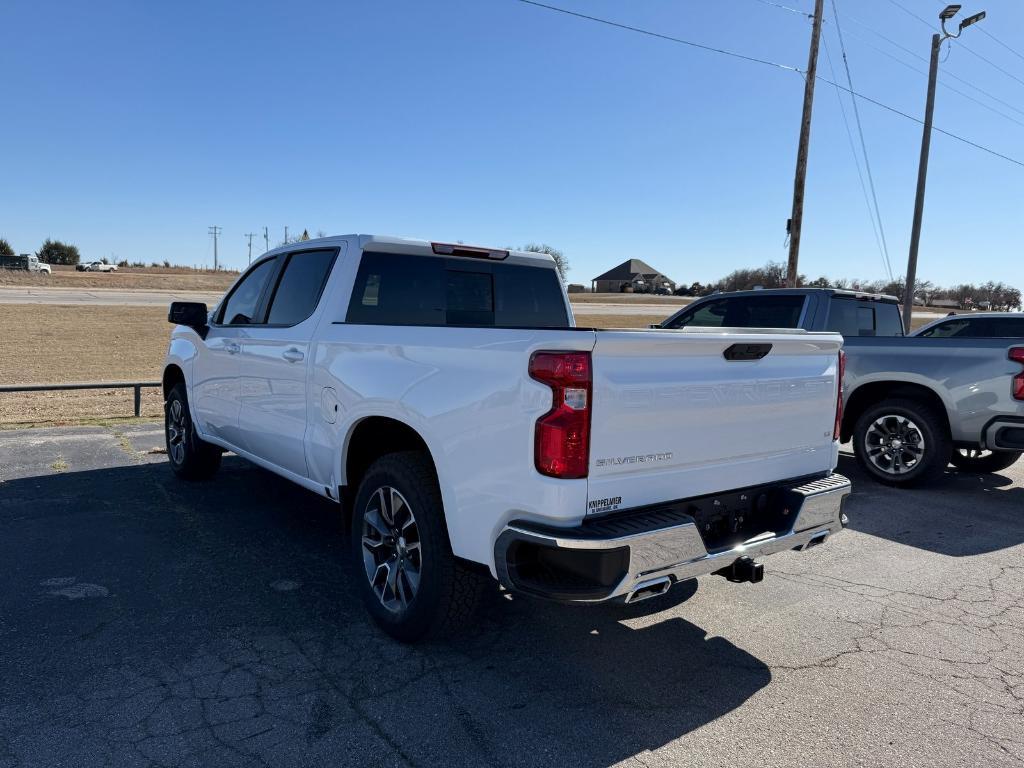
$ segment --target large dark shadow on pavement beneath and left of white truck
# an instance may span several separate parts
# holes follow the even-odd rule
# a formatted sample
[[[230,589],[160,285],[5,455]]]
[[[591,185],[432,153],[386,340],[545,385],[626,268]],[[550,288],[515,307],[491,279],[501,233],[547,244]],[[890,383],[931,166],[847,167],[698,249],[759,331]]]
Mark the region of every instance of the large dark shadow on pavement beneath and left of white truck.
[[[608,766],[740,707],[760,659],[679,616],[497,589],[407,647],[353,589],[338,508],[226,459],[0,484],[0,765]]]

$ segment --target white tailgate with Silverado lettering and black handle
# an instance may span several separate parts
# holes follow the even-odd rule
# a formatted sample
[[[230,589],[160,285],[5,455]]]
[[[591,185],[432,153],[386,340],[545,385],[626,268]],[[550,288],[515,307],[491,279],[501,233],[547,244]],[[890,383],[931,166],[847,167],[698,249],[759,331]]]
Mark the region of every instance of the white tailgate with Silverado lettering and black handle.
[[[803,331],[598,332],[588,514],[833,469],[841,346]]]

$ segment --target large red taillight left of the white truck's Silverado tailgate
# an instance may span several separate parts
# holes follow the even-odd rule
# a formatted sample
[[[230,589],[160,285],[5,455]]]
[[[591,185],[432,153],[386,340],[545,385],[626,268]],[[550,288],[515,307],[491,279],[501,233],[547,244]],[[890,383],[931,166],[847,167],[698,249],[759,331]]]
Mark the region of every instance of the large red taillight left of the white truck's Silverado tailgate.
[[[586,477],[590,463],[590,352],[534,352],[529,376],[551,387],[551,410],[537,420],[534,465],[549,477]]]

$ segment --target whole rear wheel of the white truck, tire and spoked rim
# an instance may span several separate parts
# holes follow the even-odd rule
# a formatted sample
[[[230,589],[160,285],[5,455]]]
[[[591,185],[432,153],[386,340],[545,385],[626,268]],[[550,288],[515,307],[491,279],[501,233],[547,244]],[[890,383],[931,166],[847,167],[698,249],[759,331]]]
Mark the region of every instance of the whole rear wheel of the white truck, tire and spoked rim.
[[[449,634],[476,612],[483,578],[452,554],[437,477],[422,453],[388,454],[367,470],[352,547],[362,602],[396,640]]]

